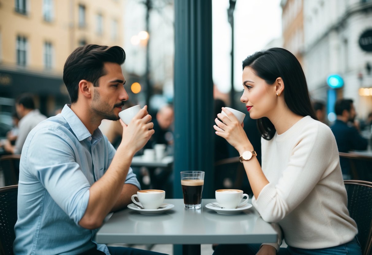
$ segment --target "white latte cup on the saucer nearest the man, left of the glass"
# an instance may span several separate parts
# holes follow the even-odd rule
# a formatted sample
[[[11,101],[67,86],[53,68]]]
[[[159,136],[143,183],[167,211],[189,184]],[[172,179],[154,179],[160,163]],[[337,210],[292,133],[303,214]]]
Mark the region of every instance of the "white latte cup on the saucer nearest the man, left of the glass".
[[[138,198],[138,201],[135,198]],[[142,206],[147,210],[158,209],[163,204],[165,198],[164,190],[139,190],[132,196],[133,203]]]

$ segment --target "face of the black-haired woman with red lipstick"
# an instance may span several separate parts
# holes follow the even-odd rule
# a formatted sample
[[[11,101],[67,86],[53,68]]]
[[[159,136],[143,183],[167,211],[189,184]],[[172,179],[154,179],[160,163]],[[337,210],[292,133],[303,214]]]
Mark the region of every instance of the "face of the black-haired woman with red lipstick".
[[[246,104],[249,116],[252,119],[269,117],[277,101],[275,85],[267,84],[265,80],[254,74],[252,68],[245,67],[243,87],[244,92],[240,101]]]

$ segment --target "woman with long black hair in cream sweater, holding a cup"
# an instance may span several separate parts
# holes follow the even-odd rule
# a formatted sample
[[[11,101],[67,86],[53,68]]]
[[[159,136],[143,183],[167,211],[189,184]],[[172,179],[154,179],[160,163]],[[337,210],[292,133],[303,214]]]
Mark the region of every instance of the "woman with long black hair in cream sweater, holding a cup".
[[[304,72],[289,51],[272,48],[243,61],[244,92],[262,135],[262,168],[235,116],[217,114],[216,134],[241,155],[252,204],[278,243],[219,245],[214,254],[362,254],[347,210],[336,140],[312,109]]]

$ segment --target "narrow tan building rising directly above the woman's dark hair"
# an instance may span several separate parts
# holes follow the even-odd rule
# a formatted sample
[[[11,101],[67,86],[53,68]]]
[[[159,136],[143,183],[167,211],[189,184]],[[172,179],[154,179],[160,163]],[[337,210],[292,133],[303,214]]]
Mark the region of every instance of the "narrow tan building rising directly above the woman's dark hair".
[[[282,0],[283,48],[292,52],[303,65],[304,3],[303,0]]]

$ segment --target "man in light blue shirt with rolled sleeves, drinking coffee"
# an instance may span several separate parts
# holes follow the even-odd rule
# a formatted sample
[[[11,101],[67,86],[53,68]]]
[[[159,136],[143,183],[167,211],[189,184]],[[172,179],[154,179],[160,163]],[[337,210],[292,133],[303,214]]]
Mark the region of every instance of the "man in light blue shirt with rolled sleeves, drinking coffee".
[[[122,123],[117,151],[98,129],[103,119],[118,120],[128,100],[124,61],[121,47],[92,44],[67,58],[71,105],[36,126],[22,151],[15,254],[156,254],[93,241],[106,215],[139,190],[131,160],[154,133],[147,106]]]

